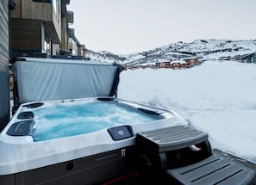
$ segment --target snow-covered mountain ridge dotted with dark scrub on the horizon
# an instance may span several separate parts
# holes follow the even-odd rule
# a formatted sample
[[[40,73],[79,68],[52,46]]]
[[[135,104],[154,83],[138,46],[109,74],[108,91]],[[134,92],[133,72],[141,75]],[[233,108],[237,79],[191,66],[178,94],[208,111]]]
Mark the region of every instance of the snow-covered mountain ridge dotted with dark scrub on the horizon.
[[[87,58],[111,61],[122,65],[137,65],[161,61],[179,60],[196,56],[202,60],[235,59],[256,52],[256,40],[195,40],[191,43],[177,42],[150,51],[128,55],[111,52],[87,52]]]

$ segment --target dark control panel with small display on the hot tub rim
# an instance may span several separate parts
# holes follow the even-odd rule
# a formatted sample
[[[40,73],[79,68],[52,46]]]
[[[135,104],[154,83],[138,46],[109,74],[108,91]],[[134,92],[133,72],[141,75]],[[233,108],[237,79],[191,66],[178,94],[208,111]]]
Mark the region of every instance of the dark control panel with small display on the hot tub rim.
[[[113,140],[128,139],[134,136],[132,126],[116,126],[108,129]]]

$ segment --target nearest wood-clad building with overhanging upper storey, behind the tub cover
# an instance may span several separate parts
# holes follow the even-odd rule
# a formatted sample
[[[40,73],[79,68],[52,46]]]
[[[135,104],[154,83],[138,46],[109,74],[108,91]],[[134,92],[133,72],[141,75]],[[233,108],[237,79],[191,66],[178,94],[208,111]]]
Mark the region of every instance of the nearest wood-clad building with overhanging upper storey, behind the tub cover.
[[[72,14],[66,11],[66,5],[70,0],[13,1],[16,9],[10,11],[10,57],[68,51],[68,22],[72,21]]]

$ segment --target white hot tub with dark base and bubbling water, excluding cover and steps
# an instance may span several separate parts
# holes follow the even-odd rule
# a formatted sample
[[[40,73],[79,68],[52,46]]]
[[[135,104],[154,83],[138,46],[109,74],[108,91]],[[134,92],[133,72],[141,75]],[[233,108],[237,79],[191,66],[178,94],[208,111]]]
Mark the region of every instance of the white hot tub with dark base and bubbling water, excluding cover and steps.
[[[133,168],[137,133],[177,125],[172,111],[110,96],[23,103],[0,134],[0,183],[103,181]]]

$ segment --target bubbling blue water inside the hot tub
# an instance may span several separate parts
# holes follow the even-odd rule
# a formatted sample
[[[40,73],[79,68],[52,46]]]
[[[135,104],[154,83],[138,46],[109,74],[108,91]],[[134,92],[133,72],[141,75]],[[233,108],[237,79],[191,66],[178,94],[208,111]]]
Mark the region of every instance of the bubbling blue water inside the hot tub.
[[[91,133],[106,127],[156,120],[116,102],[58,105],[34,110],[34,141]]]

